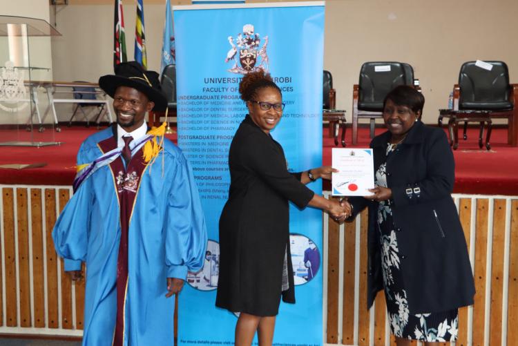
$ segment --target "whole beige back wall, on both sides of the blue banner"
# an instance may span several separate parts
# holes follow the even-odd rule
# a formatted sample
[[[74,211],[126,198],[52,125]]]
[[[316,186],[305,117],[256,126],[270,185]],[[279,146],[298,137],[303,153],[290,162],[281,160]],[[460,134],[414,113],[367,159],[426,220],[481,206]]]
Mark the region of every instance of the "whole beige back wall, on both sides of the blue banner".
[[[144,1],[151,70],[160,68],[164,3]],[[135,12],[135,2],[124,0],[128,59],[133,59]],[[347,110],[350,121],[352,86],[365,61],[412,64],[429,124],[447,106],[464,61],[506,61],[511,82],[518,83],[517,13],[515,0],[328,0],[324,67],[334,77],[336,106]],[[70,0],[59,8],[56,21],[63,36],[52,38],[55,79],[97,81],[113,73],[113,1]]]

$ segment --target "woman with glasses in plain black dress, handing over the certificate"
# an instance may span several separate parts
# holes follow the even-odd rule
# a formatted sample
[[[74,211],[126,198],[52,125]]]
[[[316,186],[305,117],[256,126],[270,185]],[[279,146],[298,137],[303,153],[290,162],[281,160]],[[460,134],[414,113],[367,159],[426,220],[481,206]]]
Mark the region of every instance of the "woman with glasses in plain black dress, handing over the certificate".
[[[305,184],[330,178],[331,167],[289,173],[282,147],[269,132],[282,117],[280,88],[262,70],[242,78],[249,115],[229,152],[229,200],[220,218],[220,273],[216,306],[240,312],[236,345],[271,345],[280,297],[295,302],[289,252],[289,204],[314,206],[343,220],[349,206],[316,195]]]

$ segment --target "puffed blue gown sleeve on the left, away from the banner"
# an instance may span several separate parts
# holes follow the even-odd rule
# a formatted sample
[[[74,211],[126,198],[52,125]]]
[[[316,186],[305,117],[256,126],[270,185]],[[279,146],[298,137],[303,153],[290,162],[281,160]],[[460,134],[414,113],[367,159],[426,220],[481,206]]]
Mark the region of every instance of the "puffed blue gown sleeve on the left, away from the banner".
[[[65,260],[65,271],[81,269],[88,248],[88,229],[90,229],[90,206],[93,203],[86,180],[70,198],[59,215],[52,239],[57,254]]]

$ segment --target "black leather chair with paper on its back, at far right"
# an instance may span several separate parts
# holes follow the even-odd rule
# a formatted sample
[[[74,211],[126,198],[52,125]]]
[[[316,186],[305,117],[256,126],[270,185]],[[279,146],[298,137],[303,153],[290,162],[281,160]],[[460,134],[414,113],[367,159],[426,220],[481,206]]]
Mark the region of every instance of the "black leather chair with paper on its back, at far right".
[[[459,84],[454,86],[453,110],[439,115],[439,126],[442,118],[455,111],[470,113],[473,117],[488,116],[491,119],[508,119],[508,144],[518,146],[518,86],[509,83],[509,71],[503,61],[468,61],[461,66]],[[453,119],[453,120],[452,120]],[[450,141],[456,148],[458,144],[457,127],[461,117],[450,117],[448,126],[454,136]],[[478,122],[476,119],[464,121],[463,138],[466,140],[468,122]],[[487,122],[488,126],[490,122]],[[483,131],[481,123],[481,132]],[[489,138],[486,140],[489,142]]]

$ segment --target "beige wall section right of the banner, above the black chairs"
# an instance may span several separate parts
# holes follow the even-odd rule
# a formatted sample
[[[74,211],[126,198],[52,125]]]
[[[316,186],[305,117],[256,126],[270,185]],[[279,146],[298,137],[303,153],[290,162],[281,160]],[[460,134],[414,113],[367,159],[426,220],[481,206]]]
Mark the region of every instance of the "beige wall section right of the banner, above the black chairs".
[[[327,1],[324,66],[332,71],[337,107],[352,110],[352,85],[365,61],[403,61],[421,81],[423,119],[437,123],[439,108],[465,61],[506,61],[518,83],[518,1]]]

